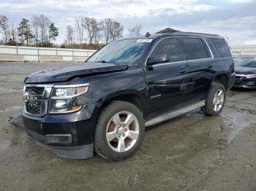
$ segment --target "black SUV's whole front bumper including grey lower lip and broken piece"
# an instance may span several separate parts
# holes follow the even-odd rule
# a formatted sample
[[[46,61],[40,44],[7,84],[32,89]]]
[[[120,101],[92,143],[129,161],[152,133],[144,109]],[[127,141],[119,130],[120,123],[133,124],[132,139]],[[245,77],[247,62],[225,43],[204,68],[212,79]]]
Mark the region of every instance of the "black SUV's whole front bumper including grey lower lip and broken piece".
[[[32,117],[24,110],[18,120],[10,119],[46,149],[60,157],[86,159],[94,154],[95,120],[88,106],[72,114],[47,114]]]

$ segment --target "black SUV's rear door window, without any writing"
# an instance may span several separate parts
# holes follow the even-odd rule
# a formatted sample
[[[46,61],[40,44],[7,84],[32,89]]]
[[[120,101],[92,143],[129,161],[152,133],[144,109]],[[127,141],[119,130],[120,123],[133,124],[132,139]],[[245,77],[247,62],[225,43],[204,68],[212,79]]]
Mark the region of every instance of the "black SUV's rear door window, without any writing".
[[[181,42],[182,53],[186,61],[211,57],[202,39],[181,38]]]

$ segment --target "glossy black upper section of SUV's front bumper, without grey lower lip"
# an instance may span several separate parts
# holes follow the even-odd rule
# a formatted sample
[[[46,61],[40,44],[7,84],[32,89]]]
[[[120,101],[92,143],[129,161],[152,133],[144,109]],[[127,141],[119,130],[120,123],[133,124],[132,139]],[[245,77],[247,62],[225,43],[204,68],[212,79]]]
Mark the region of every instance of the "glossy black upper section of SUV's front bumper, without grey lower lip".
[[[94,143],[95,120],[86,115],[87,112],[88,110],[83,108],[71,114],[47,114],[44,117],[32,117],[23,111],[23,124],[30,136],[44,144],[72,147],[92,144]],[[55,135],[61,135],[68,140],[54,141]]]

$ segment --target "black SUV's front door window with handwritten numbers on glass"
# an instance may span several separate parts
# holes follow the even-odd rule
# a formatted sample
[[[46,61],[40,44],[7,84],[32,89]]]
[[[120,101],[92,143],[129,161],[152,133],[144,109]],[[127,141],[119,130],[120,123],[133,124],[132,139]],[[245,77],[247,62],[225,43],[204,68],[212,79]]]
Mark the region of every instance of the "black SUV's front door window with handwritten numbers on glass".
[[[182,61],[178,40],[176,38],[162,39],[154,48],[150,58],[154,59],[159,55],[167,55],[170,58],[170,62]]]

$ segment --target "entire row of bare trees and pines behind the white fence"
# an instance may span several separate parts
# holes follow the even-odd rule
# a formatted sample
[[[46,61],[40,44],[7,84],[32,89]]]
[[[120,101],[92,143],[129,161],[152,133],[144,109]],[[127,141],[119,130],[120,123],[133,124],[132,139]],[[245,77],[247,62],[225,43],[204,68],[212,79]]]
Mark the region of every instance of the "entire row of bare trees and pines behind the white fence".
[[[140,34],[141,26],[129,28],[129,36]],[[13,46],[59,47],[54,44],[59,36],[59,28],[46,15],[34,15],[31,19],[22,18],[18,26],[10,24],[9,18],[0,15],[0,44]],[[66,26],[63,48],[99,49],[104,44],[120,39],[124,26],[111,18],[97,20],[80,15],[73,25]]]

